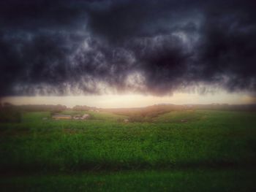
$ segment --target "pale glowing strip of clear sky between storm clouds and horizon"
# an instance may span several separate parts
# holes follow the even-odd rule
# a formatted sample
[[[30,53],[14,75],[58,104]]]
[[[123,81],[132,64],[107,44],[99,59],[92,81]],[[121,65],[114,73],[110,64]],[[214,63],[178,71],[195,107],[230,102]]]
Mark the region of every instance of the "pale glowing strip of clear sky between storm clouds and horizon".
[[[91,107],[146,107],[153,104],[254,104],[255,96],[245,93],[174,93],[173,96],[101,95],[101,96],[11,96],[1,102],[12,104],[63,104],[67,107],[87,105]]]

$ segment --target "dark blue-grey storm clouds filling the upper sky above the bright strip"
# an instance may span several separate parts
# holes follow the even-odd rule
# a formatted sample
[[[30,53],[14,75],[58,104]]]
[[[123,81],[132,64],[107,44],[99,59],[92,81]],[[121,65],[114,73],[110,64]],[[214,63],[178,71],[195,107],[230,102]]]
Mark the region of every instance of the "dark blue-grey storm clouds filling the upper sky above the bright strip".
[[[255,1],[1,1],[0,95],[256,91]],[[204,90],[204,89],[203,89]]]

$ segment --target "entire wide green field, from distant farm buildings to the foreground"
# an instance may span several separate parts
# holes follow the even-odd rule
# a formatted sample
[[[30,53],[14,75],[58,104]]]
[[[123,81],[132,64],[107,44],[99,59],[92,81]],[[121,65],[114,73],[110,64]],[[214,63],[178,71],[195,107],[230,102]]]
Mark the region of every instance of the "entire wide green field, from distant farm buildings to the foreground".
[[[89,113],[1,123],[0,191],[256,191],[255,112]]]

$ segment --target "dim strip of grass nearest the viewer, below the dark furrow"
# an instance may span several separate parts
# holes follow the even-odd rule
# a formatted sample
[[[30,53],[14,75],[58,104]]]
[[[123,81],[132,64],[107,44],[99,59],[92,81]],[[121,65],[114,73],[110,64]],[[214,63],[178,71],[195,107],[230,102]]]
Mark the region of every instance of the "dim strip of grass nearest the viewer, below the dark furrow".
[[[256,173],[187,169],[5,177],[1,191],[255,191]]]

